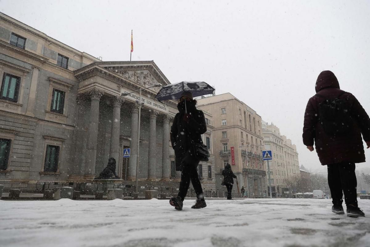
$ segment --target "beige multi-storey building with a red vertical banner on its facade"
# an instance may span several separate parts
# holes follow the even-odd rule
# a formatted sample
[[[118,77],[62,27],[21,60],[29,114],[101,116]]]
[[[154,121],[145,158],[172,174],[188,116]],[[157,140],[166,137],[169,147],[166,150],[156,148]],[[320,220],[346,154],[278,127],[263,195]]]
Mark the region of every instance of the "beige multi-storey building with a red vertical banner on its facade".
[[[267,190],[266,162],[262,160],[262,119],[248,105],[226,93],[198,99],[198,108],[212,114],[215,152],[216,188],[221,186],[221,174],[230,163],[238,177],[239,189],[248,197],[263,197]],[[217,152],[217,153],[216,153]],[[236,195],[237,186],[233,187]]]

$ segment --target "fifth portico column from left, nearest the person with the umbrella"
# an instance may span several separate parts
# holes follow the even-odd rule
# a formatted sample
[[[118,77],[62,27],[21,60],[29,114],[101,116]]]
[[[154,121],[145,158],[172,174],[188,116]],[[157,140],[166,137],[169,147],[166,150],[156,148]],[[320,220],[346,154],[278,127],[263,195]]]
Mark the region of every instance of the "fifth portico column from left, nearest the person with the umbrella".
[[[169,160],[169,116],[163,117],[163,142],[162,142],[162,180],[169,181],[171,177],[171,163]]]

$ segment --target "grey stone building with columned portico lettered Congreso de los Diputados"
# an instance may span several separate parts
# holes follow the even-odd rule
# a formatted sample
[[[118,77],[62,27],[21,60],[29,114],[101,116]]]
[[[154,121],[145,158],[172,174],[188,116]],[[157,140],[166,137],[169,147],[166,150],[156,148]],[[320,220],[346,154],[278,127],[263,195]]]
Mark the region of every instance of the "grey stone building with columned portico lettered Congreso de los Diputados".
[[[151,86],[171,84],[154,61],[101,61],[0,13],[0,83],[0,184],[6,188],[91,182],[111,157],[122,184],[134,185],[138,176],[140,185],[178,187],[169,141],[177,102],[154,99],[160,87]],[[198,172],[203,187],[214,189],[212,116],[205,116],[202,138],[211,157]]]

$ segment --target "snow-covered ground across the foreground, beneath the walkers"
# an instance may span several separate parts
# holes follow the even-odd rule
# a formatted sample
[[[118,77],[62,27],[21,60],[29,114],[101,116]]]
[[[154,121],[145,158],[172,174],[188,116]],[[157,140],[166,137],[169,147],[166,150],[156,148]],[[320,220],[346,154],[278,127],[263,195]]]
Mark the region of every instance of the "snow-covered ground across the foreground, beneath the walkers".
[[[368,217],[331,212],[327,199],[0,201],[0,246],[370,246]],[[345,207],[344,207],[345,210]]]

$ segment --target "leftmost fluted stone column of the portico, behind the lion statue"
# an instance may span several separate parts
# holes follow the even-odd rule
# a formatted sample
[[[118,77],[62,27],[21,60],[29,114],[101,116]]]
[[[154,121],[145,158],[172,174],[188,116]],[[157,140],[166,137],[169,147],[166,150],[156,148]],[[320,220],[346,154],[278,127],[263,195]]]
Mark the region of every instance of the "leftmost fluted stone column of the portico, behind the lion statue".
[[[96,164],[96,146],[98,142],[98,125],[99,125],[99,103],[103,93],[97,89],[89,92],[91,98],[90,121],[87,137],[85,178],[94,179]]]

